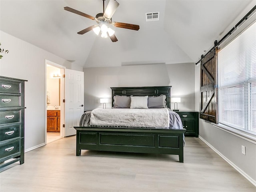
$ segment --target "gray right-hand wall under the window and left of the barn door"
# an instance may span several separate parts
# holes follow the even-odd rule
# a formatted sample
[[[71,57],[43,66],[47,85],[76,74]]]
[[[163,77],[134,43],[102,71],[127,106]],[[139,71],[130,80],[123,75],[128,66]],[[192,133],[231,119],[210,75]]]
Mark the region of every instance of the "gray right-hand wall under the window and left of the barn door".
[[[200,64],[195,68],[195,109],[200,107]],[[256,184],[256,144],[214,127],[209,122],[199,119],[199,135],[208,144],[230,160],[240,171]],[[246,155],[241,146],[246,147]]]

